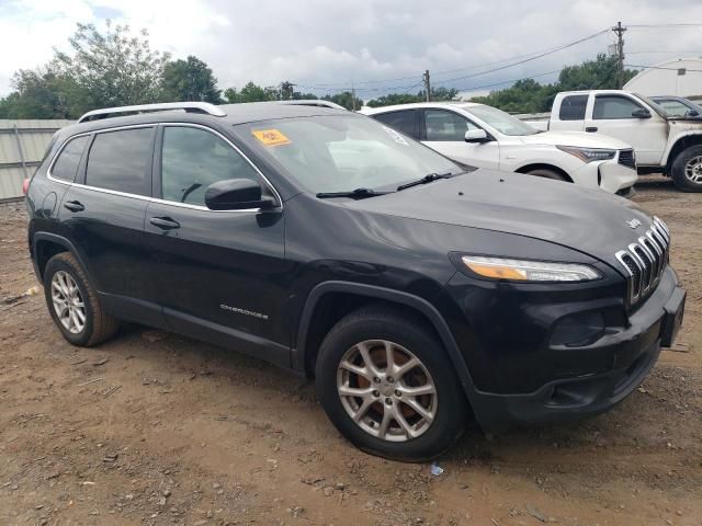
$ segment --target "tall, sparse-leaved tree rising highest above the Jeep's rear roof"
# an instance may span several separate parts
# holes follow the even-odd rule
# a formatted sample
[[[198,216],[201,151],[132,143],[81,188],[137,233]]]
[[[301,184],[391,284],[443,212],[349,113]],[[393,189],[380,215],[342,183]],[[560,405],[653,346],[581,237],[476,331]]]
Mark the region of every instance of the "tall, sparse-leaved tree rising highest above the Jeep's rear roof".
[[[170,55],[154,50],[148,32],[134,36],[127,25],[78,24],[69,39],[72,53],[54,50],[53,67],[86,94],[83,110],[158,102],[162,73]]]

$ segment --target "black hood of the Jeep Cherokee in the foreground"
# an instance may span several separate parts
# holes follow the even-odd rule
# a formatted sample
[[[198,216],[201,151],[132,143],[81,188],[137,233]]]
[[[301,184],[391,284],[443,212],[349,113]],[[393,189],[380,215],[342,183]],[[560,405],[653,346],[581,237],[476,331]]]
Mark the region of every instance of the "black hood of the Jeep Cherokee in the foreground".
[[[614,254],[652,224],[652,216],[634,203],[601,190],[485,169],[346,206],[536,238],[616,268],[621,265]],[[632,219],[642,225],[632,229]]]

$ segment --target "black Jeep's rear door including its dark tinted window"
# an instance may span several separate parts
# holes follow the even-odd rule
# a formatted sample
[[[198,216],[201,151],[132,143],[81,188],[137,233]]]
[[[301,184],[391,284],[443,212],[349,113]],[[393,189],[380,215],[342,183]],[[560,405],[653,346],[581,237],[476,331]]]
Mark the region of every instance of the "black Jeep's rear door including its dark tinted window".
[[[105,308],[122,318],[162,325],[159,307],[144,304],[144,218],[155,137],[155,126],[95,134],[87,161],[64,195],[59,219]]]

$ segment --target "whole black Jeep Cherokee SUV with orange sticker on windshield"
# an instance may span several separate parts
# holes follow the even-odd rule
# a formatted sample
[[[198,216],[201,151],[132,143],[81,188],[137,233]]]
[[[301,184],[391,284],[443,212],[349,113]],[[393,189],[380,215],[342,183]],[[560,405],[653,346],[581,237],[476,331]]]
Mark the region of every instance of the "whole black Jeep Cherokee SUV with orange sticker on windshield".
[[[69,342],[131,320],[250,353],[314,377],[339,431],[392,458],[438,455],[468,415],[496,431],[611,408],[684,305],[668,228],[631,202],[466,172],[340,110],[91,112],[26,203]]]

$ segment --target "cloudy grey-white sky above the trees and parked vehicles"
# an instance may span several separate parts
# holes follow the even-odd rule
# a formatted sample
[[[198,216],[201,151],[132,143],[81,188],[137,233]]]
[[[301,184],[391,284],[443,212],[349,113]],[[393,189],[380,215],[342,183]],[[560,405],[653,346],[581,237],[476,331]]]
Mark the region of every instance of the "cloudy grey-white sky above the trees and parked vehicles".
[[[632,25],[627,64],[702,56],[701,27],[633,27],[702,21],[699,0],[0,0],[0,96],[13,71],[67,49],[77,22],[105,19],[147,28],[173,57],[205,60],[220,88],[291,80],[319,95],[354,85],[364,99],[418,91],[424,69],[433,85],[461,91],[552,81],[564,65],[607,52],[613,34],[512,64],[618,20]]]

